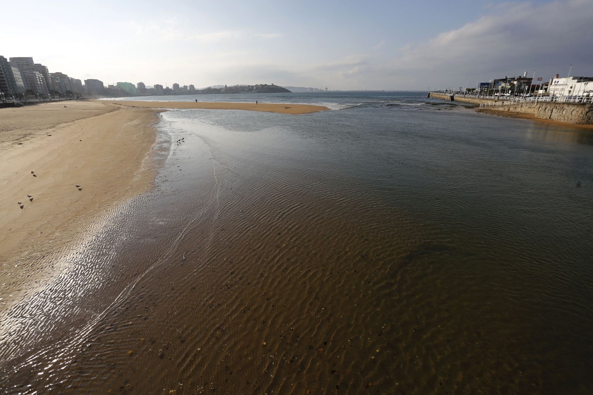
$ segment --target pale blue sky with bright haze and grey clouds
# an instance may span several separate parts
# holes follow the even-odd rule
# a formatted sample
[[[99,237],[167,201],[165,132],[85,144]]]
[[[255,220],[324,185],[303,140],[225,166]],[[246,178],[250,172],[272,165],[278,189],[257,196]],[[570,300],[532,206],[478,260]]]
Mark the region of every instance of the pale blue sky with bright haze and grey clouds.
[[[593,76],[593,0],[2,2],[0,55],[50,72],[329,89],[458,87]]]

